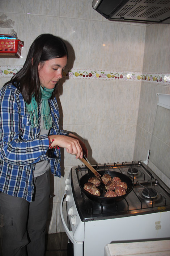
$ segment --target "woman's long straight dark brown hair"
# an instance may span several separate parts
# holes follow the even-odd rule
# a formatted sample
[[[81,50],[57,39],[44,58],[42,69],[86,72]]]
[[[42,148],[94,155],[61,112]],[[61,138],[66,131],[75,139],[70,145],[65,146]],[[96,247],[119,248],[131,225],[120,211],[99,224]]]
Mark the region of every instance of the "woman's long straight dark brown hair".
[[[35,100],[41,101],[40,81],[38,74],[39,63],[53,58],[68,57],[65,43],[52,34],[41,34],[31,44],[23,68],[10,80],[21,92],[24,100],[29,104],[34,95]],[[54,98],[57,86],[52,94]]]

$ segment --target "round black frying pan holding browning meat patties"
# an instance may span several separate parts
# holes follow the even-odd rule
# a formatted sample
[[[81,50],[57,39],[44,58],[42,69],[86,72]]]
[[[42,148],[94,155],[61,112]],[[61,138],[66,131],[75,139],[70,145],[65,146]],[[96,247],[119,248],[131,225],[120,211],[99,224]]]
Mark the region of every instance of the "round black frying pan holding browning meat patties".
[[[128,189],[127,189],[127,193],[123,196],[106,198],[106,197],[104,197],[104,194],[106,192],[105,185],[101,183],[101,185],[98,187],[101,192],[101,196],[92,195],[89,192],[87,192],[86,190],[84,190],[84,184],[86,182],[88,182],[89,178],[94,177],[94,174],[92,172],[89,172],[80,178],[79,185],[80,185],[81,190],[85,193],[85,195],[89,199],[93,200],[94,202],[103,203],[103,204],[119,202],[119,201],[123,200],[133,190],[133,182],[127,175],[122,174],[121,172],[116,172],[116,171],[98,171],[98,172],[99,172],[99,174],[101,174],[101,176],[103,176],[104,174],[109,174],[111,176],[111,178],[113,178],[114,176],[119,177],[123,182],[127,183]]]

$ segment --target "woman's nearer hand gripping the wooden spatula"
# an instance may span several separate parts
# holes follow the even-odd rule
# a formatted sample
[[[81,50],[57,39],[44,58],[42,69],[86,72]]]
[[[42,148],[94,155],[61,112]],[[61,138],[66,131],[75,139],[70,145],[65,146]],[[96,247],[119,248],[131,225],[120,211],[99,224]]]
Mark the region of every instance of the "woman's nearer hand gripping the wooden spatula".
[[[50,135],[49,138],[50,141],[54,139],[51,144],[52,147],[64,147],[66,148],[67,153],[76,155],[76,159],[83,157],[83,150],[78,139],[66,135]]]

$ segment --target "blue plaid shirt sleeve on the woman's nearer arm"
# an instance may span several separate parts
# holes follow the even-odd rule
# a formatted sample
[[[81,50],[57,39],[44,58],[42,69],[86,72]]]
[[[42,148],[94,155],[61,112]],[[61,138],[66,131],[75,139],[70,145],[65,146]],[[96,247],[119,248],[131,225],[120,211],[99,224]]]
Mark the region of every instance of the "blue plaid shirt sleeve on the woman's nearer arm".
[[[0,155],[8,164],[23,166],[45,159],[49,143],[47,135],[36,138],[19,95],[12,85],[0,91]]]

